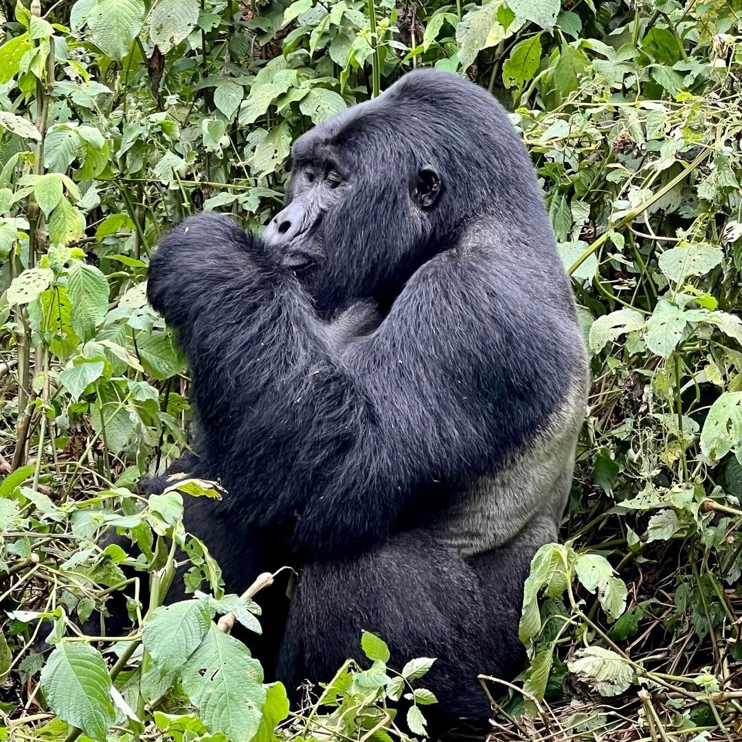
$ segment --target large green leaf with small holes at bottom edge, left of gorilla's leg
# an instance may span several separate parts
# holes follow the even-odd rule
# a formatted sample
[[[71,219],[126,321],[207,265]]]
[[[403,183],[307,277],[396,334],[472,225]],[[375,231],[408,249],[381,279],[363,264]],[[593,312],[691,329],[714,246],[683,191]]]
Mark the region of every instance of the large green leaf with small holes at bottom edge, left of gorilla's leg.
[[[263,669],[243,643],[211,623],[183,667],[182,683],[209,732],[221,732],[230,742],[251,742],[260,727],[266,690]]]

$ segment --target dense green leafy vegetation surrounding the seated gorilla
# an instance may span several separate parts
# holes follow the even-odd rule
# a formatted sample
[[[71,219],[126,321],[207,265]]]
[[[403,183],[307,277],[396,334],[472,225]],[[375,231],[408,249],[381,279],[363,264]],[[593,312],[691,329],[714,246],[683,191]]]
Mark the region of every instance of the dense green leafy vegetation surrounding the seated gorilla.
[[[222,630],[259,628],[249,585],[220,586],[183,529],[183,498],[217,490],[136,493],[189,418],[187,370],[144,298],[157,240],[198,209],[265,223],[292,139],[421,65],[513,111],[592,358],[565,544],[526,588],[530,665],[483,679],[496,734],[742,732],[740,0],[2,7],[0,738],[424,734],[430,660],[387,669],[370,634],[370,669],[347,663],[289,713]],[[110,529],[153,588],[129,637],[81,629],[131,582],[134,557],[99,545]],[[176,546],[195,597],[165,609]]]

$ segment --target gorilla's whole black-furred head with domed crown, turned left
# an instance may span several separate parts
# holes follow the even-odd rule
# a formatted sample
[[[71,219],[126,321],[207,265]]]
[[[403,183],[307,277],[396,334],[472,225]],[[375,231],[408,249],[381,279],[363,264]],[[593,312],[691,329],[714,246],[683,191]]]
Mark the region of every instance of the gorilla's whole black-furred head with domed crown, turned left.
[[[502,107],[434,70],[308,131],[292,161],[286,208],[264,240],[322,312],[361,297],[388,306],[477,214],[539,198]]]

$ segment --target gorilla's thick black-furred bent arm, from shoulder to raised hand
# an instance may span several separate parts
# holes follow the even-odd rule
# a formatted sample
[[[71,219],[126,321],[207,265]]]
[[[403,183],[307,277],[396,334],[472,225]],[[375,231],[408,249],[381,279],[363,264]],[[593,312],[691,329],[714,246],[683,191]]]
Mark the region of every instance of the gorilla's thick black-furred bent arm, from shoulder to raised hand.
[[[295,278],[229,218],[164,240],[148,296],[191,362],[202,476],[219,471],[235,517],[344,554],[387,536],[426,487],[493,473],[527,444],[571,381],[564,318],[531,316],[516,282],[454,252],[338,352]]]

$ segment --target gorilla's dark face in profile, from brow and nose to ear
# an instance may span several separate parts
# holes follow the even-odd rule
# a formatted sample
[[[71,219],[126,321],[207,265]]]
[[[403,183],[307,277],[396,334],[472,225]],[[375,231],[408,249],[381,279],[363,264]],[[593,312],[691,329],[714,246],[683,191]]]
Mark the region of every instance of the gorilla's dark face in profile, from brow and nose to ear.
[[[286,207],[263,234],[321,311],[356,298],[384,302],[391,277],[406,280],[428,252],[444,188],[439,170],[416,166],[411,151],[368,162],[381,149],[370,139],[383,137],[370,123],[354,137],[342,118],[331,119],[295,142]]]

